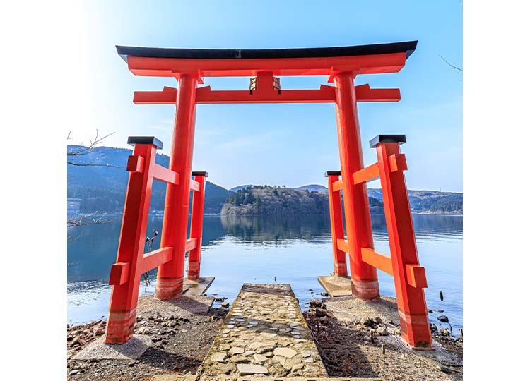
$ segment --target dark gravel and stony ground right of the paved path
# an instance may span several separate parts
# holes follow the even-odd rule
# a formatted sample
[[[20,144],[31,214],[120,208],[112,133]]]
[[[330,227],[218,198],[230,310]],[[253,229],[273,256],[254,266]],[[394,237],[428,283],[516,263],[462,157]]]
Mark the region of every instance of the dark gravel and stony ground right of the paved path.
[[[319,303],[313,303],[304,316],[329,377],[411,381],[462,379],[462,339],[433,332],[435,351],[407,349],[399,336],[396,310],[389,308],[390,299],[383,301],[381,308],[388,310],[390,317],[372,314],[370,319],[338,312],[334,303],[329,306],[325,303],[319,306]],[[373,305],[367,310],[375,311]]]

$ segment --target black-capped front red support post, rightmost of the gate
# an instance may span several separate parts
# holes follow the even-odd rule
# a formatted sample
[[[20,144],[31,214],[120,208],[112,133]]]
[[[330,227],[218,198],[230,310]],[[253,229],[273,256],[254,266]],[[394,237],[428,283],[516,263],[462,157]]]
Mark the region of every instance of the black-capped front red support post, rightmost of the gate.
[[[406,169],[404,155],[399,152],[399,143],[377,141],[375,147],[377,148],[392,269],[394,270],[401,339],[413,348],[430,348],[432,340],[423,292],[423,287],[426,287],[427,283],[425,270],[418,266],[418,250],[403,173]],[[413,271],[415,270],[420,272],[417,278],[422,281],[413,286],[411,280],[414,278]]]

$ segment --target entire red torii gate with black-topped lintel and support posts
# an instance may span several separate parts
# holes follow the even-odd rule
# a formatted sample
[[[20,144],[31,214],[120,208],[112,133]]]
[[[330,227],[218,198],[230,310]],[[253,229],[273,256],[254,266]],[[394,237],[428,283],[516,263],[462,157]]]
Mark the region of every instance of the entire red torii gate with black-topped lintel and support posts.
[[[430,325],[423,287],[425,270],[418,265],[411,211],[399,144],[404,135],[378,135],[378,162],[364,167],[357,102],[397,102],[399,89],[372,89],[354,85],[360,74],[395,73],[416,49],[417,41],[351,47],[307,49],[164,49],[117,47],[134,75],[172,77],[178,90],[135,92],[135,104],[175,104],[175,126],[169,169],[154,163],[162,146],[153,137],[132,137],[134,155],[126,196],[105,342],[124,343],[134,332],[139,277],[158,267],[155,298],[175,299],[182,294],[184,255],[190,251],[190,279],[199,277],[204,176],[192,173],[196,104],[220,103],[332,103],[336,105],[341,171],[328,172],[335,273],[345,275],[349,253],[352,294],[363,299],[379,296],[377,270],[394,275],[402,339],[413,348],[431,346]],[[326,75],[334,85],[319,90],[281,90],[281,75]],[[211,90],[197,87],[204,77],[252,77],[249,90]],[[191,179],[196,176],[195,180]],[[341,175],[341,179],[338,176]],[[366,181],[380,177],[389,231],[391,257],[373,250]],[[148,200],[152,179],[167,182],[160,249],[143,253]],[[192,237],[187,239],[189,191],[199,192],[192,216]],[[343,192],[344,239],[340,191]],[[197,193],[196,193],[197,194]],[[194,255],[192,255],[194,252]]]

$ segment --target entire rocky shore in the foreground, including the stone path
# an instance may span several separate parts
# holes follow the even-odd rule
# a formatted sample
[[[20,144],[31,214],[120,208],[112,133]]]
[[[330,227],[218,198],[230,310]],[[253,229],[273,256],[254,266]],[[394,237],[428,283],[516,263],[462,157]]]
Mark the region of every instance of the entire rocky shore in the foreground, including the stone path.
[[[204,297],[182,298],[165,304],[141,298],[135,337],[143,337],[148,347],[138,358],[80,356],[102,341],[105,322],[68,327],[68,379],[148,381],[201,375],[213,380],[216,373],[255,376],[258,368],[261,377],[299,377],[309,372],[313,377],[384,380],[462,378],[460,332],[433,324],[434,350],[411,351],[401,341],[391,298],[377,302],[351,297],[314,299],[302,316],[300,310],[296,312],[298,306],[291,305],[289,293],[283,295],[281,289],[279,294],[267,295],[255,285],[247,291],[235,301],[231,315],[228,308],[210,308],[213,298],[209,302]],[[281,298],[281,310],[272,310],[268,298]],[[250,308],[251,304],[257,308]]]

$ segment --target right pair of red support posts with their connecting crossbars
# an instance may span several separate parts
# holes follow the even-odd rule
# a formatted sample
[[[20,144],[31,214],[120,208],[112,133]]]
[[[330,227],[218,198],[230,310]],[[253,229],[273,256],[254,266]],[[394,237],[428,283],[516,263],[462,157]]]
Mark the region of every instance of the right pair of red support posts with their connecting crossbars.
[[[425,268],[421,267],[418,262],[411,207],[408,202],[408,191],[403,174],[403,171],[407,169],[407,164],[405,155],[399,152],[399,143],[404,142],[406,142],[405,135],[377,135],[370,140],[370,147],[377,148],[377,163],[353,172],[355,186],[365,185],[367,181],[372,181],[377,177],[381,179],[384,217],[387,221],[391,251],[391,255],[385,255],[375,251],[373,245],[361,246],[360,260],[365,265],[370,265],[372,268],[382,270],[394,277],[401,339],[414,349],[430,349],[432,338],[425,294],[423,293],[423,289],[427,287],[427,278],[425,277]],[[340,250],[349,253],[351,240],[348,238],[348,241],[344,241],[340,232],[336,232],[341,223],[336,220],[334,215],[337,207],[332,207],[332,200],[334,193],[338,192],[341,187],[346,188],[348,183],[345,179],[338,180],[338,176],[331,178],[331,174],[338,175],[340,172],[328,172],[328,174],[330,175],[328,186],[331,236],[335,271],[337,271],[336,250],[339,250],[338,253],[341,253]],[[368,214],[368,218],[370,218],[370,214]]]

